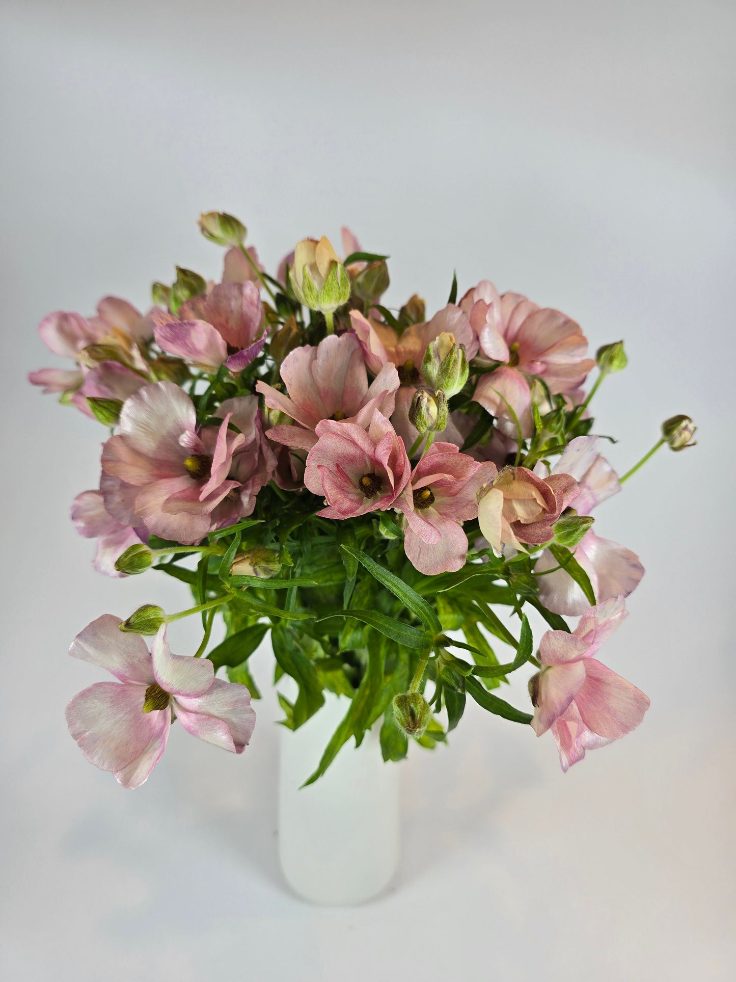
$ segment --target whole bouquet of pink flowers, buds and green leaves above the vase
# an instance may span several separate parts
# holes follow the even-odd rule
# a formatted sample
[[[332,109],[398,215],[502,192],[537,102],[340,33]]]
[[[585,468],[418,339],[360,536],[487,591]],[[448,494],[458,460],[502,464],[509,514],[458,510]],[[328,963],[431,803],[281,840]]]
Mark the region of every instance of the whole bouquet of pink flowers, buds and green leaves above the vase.
[[[38,328],[75,365],[30,382],[110,428],[99,489],[72,507],[95,569],[164,573],[193,594],[175,613],[104,614],[73,641],[117,680],[67,709],[86,758],[137,788],[175,720],[242,752],[260,696],[248,658],[269,631],[274,681],[296,683],[293,702],[279,694],[285,726],[325,689],[346,697],[307,784],[374,725],[386,761],[409,737],[446,741],[468,696],[552,731],[563,771],[637,727],[649,699],[598,652],[644,569],[592,513],[660,446],[691,446],[692,420],[666,420],[619,478],[590,405],[626,365],[621,342],[589,358],[575,321],[487,280],[458,300],[454,278],[430,318],[418,296],[390,309],[388,257],[347,230],[342,260],[306,239],[273,277],[236,218],[199,226],[227,247],[221,283],[177,267],[145,314],[107,297]],[[530,609],[549,626],[536,647]],[[166,628],[184,617],[201,640],[182,656]],[[527,662],[531,712],[499,694]]]

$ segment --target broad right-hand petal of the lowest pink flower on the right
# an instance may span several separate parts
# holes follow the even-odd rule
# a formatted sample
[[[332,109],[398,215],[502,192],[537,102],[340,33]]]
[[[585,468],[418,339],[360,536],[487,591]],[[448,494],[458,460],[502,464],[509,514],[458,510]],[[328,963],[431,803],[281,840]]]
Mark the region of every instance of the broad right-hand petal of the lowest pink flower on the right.
[[[649,698],[595,658],[585,661],[585,683],[575,695],[578,712],[593,733],[618,739],[644,719]]]

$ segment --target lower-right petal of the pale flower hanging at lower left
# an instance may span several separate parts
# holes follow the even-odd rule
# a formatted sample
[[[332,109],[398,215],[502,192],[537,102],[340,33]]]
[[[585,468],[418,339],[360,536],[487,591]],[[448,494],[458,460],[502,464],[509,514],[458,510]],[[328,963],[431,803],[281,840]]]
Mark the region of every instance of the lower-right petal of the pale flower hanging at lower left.
[[[175,712],[184,730],[233,753],[242,753],[255,726],[250,692],[239,682],[215,679],[199,698],[178,696]]]

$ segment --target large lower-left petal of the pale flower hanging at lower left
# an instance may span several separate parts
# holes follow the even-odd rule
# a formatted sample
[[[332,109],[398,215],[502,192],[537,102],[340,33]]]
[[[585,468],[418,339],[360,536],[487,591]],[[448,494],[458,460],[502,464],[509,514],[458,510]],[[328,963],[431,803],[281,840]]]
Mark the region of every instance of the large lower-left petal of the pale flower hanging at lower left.
[[[122,771],[166,728],[169,710],[143,712],[145,688],[131,682],[96,682],[67,706],[69,732],[90,764]]]

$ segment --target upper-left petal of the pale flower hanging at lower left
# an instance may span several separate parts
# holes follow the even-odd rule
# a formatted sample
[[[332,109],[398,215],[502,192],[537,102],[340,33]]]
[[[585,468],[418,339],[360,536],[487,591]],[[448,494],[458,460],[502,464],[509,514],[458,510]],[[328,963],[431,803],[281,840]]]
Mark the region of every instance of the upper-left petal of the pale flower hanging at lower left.
[[[114,675],[121,682],[150,685],[154,681],[151,656],[140,634],[122,631],[122,619],[103,614],[92,621],[72,641],[70,655],[90,662]],[[142,706],[142,701],[141,701]]]

